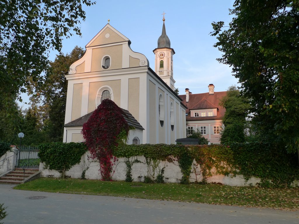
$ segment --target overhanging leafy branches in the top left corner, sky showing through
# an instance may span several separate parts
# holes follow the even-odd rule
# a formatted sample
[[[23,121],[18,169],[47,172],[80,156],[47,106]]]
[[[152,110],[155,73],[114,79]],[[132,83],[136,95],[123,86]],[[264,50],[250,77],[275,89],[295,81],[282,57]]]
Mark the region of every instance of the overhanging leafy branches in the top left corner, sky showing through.
[[[30,80],[41,82],[48,49],[58,51],[63,37],[81,35],[83,5],[90,0],[1,0],[0,1],[0,94],[7,115],[17,114],[15,99]],[[12,118],[13,119],[13,118]]]

